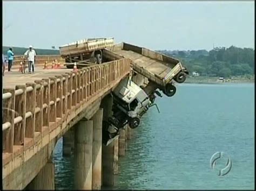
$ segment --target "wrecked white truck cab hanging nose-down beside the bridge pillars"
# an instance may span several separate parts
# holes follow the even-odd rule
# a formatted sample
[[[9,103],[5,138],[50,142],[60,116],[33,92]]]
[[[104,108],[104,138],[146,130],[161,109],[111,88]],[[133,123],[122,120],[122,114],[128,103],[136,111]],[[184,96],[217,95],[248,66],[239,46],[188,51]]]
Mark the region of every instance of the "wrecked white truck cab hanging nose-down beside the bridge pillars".
[[[140,118],[152,107],[150,95],[134,83],[131,78],[126,77],[112,91],[113,115],[103,122],[103,143],[108,145],[117,136],[119,130],[126,124],[135,129],[140,124]],[[157,107],[158,109],[158,107]],[[159,112],[159,110],[158,110]]]

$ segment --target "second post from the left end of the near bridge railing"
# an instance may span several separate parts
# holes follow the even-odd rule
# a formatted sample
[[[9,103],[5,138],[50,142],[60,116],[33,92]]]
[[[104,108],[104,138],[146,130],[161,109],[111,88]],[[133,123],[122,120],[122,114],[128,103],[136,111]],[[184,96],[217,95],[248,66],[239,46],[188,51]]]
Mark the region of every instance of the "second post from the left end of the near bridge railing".
[[[24,145],[26,129],[26,86],[17,85],[15,89],[22,89],[23,93],[15,97],[18,100],[15,102],[15,117],[21,116],[22,122],[14,126],[14,145]]]

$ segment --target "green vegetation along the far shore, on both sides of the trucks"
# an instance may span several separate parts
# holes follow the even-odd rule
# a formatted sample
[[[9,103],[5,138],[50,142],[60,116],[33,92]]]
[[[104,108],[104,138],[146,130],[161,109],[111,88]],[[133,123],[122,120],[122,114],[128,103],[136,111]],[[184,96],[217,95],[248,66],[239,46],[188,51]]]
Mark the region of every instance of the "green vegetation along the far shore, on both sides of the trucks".
[[[3,46],[3,54],[6,55],[9,47]],[[23,55],[28,48],[12,47],[15,55]],[[38,55],[56,55],[58,49],[36,49]],[[157,51],[181,62],[190,71],[187,82],[218,81],[218,77],[225,77],[231,82],[254,82],[254,49],[231,46],[205,49],[197,51]],[[197,72],[200,76],[192,76]]]

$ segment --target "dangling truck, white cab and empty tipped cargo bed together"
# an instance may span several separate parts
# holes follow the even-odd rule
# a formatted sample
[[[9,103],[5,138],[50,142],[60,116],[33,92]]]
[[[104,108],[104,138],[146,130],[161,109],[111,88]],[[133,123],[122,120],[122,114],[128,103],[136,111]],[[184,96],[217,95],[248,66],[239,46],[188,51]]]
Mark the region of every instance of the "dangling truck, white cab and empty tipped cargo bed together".
[[[131,59],[133,72],[149,80],[146,87],[139,87],[131,79],[125,79],[113,90],[113,115],[103,126],[103,143],[108,145],[119,136],[119,130],[126,124],[130,128],[138,127],[140,118],[150,107],[156,105],[154,94],[161,97],[157,89],[168,97],[173,96],[176,93],[174,81],[183,83],[188,70],[171,56],[127,43],[104,49],[103,56],[107,61]]]

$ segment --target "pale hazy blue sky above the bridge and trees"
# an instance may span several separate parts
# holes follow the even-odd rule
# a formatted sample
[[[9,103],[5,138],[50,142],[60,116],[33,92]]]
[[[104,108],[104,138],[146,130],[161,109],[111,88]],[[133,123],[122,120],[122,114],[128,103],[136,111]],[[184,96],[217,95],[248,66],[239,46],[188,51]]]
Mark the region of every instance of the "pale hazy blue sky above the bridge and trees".
[[[254,2],[3,2],[3,45],[114,37],[150,49],[254,47]]]

